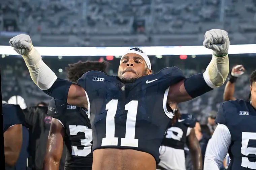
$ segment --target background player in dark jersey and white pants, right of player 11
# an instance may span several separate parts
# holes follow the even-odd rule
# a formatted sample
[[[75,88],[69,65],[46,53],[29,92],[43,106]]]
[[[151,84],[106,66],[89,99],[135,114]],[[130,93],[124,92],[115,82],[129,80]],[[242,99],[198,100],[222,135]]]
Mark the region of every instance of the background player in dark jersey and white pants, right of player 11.
[[[194,169],[202,169],[202,154],[195,135],[195,124],[196,119],[191,114],[180,114],[180,109],[175,108],[172,123],[159,148],[160,162],[157,169],[186,170],[185,144],[189,148]]]

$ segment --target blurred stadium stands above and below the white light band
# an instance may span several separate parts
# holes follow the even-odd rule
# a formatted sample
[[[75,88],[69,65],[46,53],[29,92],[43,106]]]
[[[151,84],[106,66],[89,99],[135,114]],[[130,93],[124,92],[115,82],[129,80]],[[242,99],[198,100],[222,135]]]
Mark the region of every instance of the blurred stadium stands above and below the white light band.
[[[0,0],[0,45],[29,34],[34,46],[44,47],[134,47],[201,46],[204,33],[224,29],[234,44],[256,44],[255,0]],[[101,48],[100,48],[101,47]],[[147,53],[147,51],[145,51]],[[120,56],[42,56],[61,78],[65,67],[79,60],[111,63],[109,74],[116,75]],[[20,95],[27,106],[50,97],[33,83],[19,55],[0,50],[2,100]],[[235,96],[246,99],[249,74],[256,55],[230,54],[230,68],[243,64],[246,73],[236,83]],[[207,55],[150,55],[154,72],[177,66],[187,76],[204,71],[211,60]],[[182,113],[193,113],[202,123],[223,101],[224,86],[192,101],[181,103]]]

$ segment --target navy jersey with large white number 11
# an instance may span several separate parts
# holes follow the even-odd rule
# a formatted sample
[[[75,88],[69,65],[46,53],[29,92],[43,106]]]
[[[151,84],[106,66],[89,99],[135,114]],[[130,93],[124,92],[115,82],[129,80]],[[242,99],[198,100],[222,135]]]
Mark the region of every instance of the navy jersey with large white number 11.
[[[77,84],[88,97],[93,151],[133,149],[149,153],[159,162],[159,147],[173,117],[166,107],[169,87],[183,79],[185,75],[177,67],[125,84],[118,76],[100,71],[85,73]]]

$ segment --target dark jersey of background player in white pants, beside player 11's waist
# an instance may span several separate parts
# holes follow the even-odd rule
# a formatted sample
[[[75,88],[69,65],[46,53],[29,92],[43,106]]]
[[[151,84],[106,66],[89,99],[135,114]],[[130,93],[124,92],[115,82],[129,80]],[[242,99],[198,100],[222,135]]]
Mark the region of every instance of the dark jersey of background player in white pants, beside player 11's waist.
[[[170,125],[164,135],[161,145],[184,150],[189,128],[195,127],[196,119],[191,114],[182,114],[173,125]]]

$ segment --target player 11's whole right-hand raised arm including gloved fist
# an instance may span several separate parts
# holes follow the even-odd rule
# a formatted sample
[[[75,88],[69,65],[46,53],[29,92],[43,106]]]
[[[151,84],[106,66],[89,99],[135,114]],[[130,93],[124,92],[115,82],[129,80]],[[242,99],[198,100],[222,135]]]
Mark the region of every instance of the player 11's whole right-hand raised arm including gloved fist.
[[[228,33],[224,30],[213,29],[204,35],[204,47],[213,50],[212,60],[204,73],[185,78],[170,86],[167,102],[177,104],[191,100],[223,85],[229,72]]]

